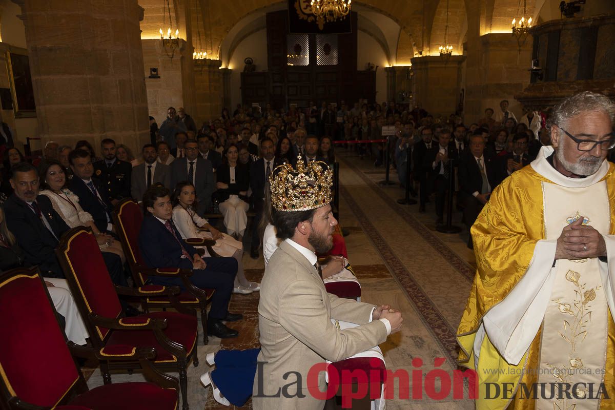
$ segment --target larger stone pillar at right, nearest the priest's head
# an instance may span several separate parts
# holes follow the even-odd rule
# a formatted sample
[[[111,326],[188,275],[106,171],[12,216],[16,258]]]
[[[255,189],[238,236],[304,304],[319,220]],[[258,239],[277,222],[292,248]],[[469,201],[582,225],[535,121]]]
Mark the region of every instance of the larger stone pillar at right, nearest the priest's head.
[[[530,83],[532,37],[519,50],[512,33],[491,33],[480,37],[468,35],[466,69],[465,121],[477,121],[486,108],[498,112],[499,102],[509,100],[509,109],[517,119],[523,116],[514,95]],[[470,57],[470,53],[472,57]]]

